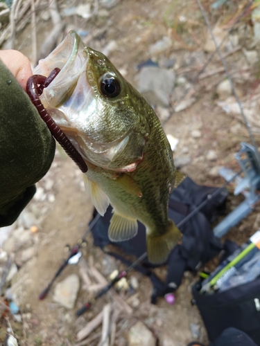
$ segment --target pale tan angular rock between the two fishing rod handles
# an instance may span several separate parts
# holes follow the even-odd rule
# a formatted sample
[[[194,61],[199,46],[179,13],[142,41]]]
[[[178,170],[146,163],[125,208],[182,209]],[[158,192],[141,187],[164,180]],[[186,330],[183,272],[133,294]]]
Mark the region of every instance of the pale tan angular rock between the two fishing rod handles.
[[[78,275],[69,275],[65,280],[55,286],[53,300],[62,304],[67,309],[73,309],[80,288]]]

